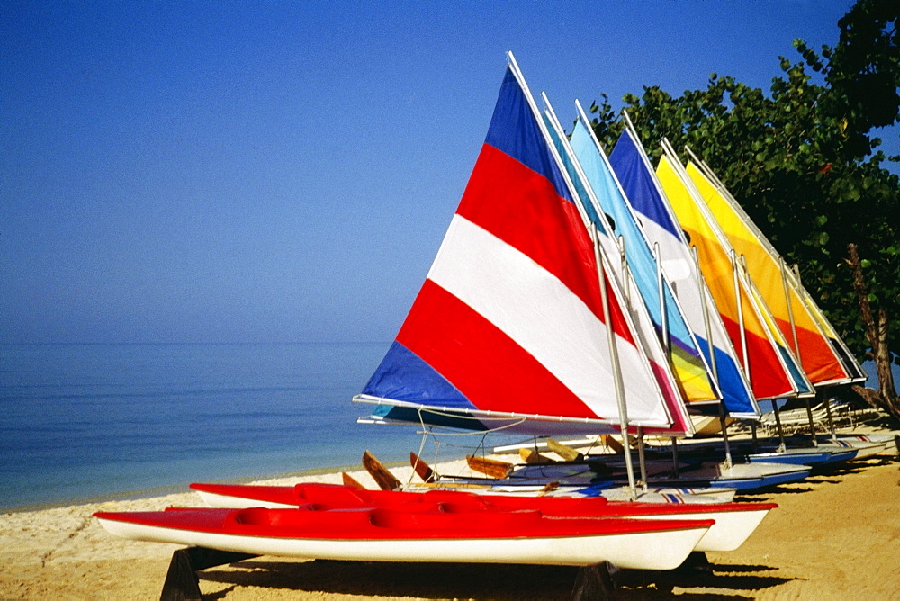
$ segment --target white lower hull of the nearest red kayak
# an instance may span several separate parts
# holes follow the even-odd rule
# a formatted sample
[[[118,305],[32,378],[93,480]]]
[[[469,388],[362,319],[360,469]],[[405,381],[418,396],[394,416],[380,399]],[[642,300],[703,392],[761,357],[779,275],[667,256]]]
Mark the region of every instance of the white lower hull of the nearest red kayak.
[[[202,510],[200,510],[202,511]],[[208,509],[205,511],[217,511]],[[293,511],[298,511],[294,509]],[[349,561],[425,561],[526,563],[585,566],[609,561],[623,569],[673,570],[687,559],[707,532],[709,522],[686,522],[664,531],[648,526],[625,534],[558,534],[496,537],[418,537],[394,539],[234,534],[226,525],[173,525],[167,514],[97,514],[110,534],[138,541],[201,546],[220,551],[304,559]],[[177,512],[175,512],[177,513]],[[202,520],[201,520],[202,521]],[[563,520],[565,521],[565,520]],[[621,520],[619,520],[621,521]],[[632,521],[635,520],[626,520]],[[597,529],[595,529],[596,531]]]

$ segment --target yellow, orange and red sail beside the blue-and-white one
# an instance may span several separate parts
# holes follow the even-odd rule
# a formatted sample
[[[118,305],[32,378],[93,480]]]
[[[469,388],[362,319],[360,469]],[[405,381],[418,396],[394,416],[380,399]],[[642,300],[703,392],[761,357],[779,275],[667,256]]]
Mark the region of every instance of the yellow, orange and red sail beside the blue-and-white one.
[[[734,254],[729,253],[727,239],[716,227],[715,220],[704,211],[702,201],[697,202],[694,191],[677,171],[678,167],[677,162],[663,155],[656,175],[689,244],[698,250],[700,270],[744,370],[748,372],[754,396],[774,399],[796,395],[799,387],[788,372],[784,354],[773,340],[758,303],[748,290],[742,270],[734,263]]]

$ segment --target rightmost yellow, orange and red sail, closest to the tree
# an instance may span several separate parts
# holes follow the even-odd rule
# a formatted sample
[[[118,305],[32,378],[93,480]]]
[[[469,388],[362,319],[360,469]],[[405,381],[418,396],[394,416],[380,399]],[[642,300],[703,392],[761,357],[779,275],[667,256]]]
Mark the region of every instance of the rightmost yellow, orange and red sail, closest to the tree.
[[[848,381],[841,358],[795,289],[775,247],[718,182],[714,183],[693,162],[689,162],[687,172],[731,246],[744,256],[753,283],[809,381],[815,385]]]

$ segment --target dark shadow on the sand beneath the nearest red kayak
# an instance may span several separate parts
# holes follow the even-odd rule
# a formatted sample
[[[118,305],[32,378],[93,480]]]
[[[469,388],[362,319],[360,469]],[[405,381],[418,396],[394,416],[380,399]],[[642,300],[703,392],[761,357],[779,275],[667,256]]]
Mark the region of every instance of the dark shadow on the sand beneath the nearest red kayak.
[[[789,579],[768,576],[762,565],[685,564],[678,570],[622,570],[609,599],[679,597],[752,599],[761,589]],[[273,588],[298,595],[359,595],[420,599],[570,599],[579,575],[571,566],[375,561],[239,561],[229,568],[198,572],[203,582],[230,585],[204,599],[221,599],[235,588]],[[209,587],[205,587],[209,588]],[[701,590],[692,590],[692,589]],[[709,592],[710,589],[715,592]]]

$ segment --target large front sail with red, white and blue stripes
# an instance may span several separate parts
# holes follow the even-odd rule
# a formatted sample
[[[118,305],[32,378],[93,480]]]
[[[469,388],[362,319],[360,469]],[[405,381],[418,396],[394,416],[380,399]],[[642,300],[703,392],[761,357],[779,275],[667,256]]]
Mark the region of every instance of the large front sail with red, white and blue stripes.
[[[672,427],[648,362],[524,81],[510,65],[463,198],[410,313],[356,400],[376,418],[532,434],[614,431],[607,328],[628,419]],[[604,318],[601,281],[611,316]],[[674,399],[674,400],[673,400]]]

